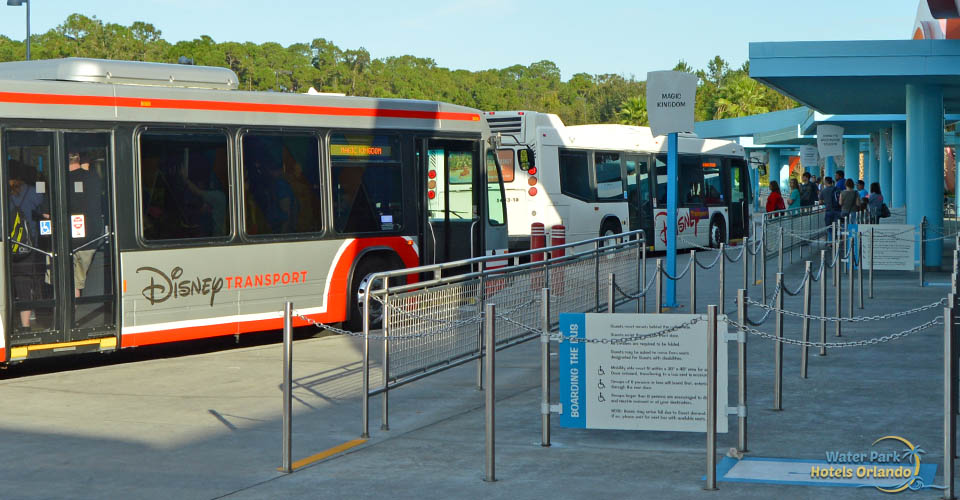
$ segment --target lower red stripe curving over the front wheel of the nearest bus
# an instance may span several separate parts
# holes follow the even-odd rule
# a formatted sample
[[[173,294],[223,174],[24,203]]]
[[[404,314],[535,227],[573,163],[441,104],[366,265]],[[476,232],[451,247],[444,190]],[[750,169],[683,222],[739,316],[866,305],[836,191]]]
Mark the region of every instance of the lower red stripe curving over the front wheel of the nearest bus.
[[[340,259],[337,260],[333,268],[333,276],[330,279],[330,290],[327,293],[327,312],[309,314],[307,317],[319,323],[339,323],[347,319],[347,294],[349,293],[347,291],[347,285],[350,283],[350,273],[353,270],[357,256],[365,249],[371,247],[387,247],[394,250],[408,268],[419,265],[417,252],[414,251],[412,245],[407,244],[407,240],[399,236],[353,240],[344,250],[343,254],[341,254]],[[415,282],[417,275],[411,274],[407,277],[407,280],[411,283]],[[296,302],[294,302],[293,307],[296,310]],[[293,326],[304,326],[307,324],[306,321],[299,317],[295,316],[293,318]],[[280,328],[283,328],[283,318],[271,318],[130,333],[123,335],[121,342],[123,347],[135,347],[162,344],[164,342],[219,337],[236,333],[276,330]]]

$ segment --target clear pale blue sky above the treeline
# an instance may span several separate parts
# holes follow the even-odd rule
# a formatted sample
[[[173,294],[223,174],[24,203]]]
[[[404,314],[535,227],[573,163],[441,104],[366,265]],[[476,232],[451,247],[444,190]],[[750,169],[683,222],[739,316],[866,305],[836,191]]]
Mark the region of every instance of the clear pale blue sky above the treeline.
[[[371,57],[410,54],[471,71],[553,61],[576,73],[645,80],[683,59],[733,67],[750,42],[907,39],[919,0],[41,0],[30,28],[45,33],[72,13],[129,26],[153,24],[169,42],[326,38]],[[32,2],[31,2],[32,3]],[[21,40],[25,7],[0,3],[0,34]]]

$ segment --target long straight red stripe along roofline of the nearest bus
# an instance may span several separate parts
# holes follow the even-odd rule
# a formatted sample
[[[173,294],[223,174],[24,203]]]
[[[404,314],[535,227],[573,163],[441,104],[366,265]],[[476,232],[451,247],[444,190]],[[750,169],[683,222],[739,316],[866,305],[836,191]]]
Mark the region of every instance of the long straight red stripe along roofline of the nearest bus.
[[[0,92],[0,102],[16,104],[53,104],[63,106],[110,106],[119,108],[191,109],[240,113],[278,113],[295,115],[360,116],[371,118],[407,118],[418,120],[480,121],[476,113],[417,111],[387,108],[345,108],[302,104],[264,104],[255,102],[198,101],[187,99],[148,99],[141,97],[85,96]]]

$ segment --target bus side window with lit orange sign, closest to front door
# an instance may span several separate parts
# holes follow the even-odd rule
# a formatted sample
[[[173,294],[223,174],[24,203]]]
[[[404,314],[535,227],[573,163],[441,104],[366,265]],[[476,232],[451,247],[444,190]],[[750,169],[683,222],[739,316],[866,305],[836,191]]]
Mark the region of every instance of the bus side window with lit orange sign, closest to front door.
[[[337,232],[399,230],[403,221],[399,138],[333,133],[330,158]]]

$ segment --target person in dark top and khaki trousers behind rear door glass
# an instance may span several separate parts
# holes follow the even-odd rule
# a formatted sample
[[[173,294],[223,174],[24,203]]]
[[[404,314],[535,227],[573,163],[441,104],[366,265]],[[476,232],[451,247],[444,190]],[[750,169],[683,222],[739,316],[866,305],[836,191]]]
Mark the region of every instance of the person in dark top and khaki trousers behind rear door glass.
[[[96,242],[103,236],[103,181],[100,174],[90,169],[91,161],[92,156],[88,153],[67,154],[74,297],[79,297],[86,286],[87,271],[97,253]]]

